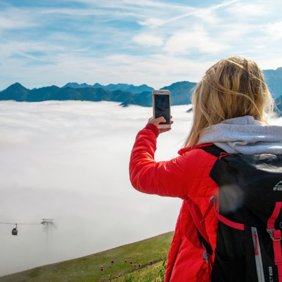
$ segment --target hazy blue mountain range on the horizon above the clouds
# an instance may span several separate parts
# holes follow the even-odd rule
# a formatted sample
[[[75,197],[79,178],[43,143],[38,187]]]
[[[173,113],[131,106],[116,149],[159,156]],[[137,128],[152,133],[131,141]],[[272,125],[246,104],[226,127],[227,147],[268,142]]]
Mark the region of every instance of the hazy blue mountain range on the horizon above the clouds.
[[[263,70],[265,81],[276,101],[277,107],[282,111],[282,67]],[[171,92],[171,105],[186,105],[191,103],[192,90],[196,83],[182,81],[176,82],[161,89]],[[15,83],[0,92],[0,100],[15,100],[27,102],[40,102],[46,100],[82,100],[82,101],[114,101],[121,106],[130,104],[152,107],[152,91],[154,88],[146,84],[134,86],[132,84],[95,83],[78,84],[67,83],[63,87],[47,86],[27,89],[20,83]]]

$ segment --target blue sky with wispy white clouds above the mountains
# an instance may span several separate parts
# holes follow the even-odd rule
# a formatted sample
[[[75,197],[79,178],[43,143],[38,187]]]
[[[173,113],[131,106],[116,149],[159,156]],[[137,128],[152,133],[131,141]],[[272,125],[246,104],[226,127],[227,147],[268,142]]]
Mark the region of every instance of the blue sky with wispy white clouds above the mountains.
[[[282,2],[0,0],[0,89],[198,81],[219,59],[282,66]]]

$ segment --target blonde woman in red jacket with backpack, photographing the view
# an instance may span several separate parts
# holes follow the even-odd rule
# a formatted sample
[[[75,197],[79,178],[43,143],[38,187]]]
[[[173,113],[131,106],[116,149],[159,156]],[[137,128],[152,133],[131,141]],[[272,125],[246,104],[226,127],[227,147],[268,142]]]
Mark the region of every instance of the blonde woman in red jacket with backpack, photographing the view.
[[[247,201],[245,188],[242,188],[246,179],[252,181],[261,176],[261,181],[270,183],[273,180],[277,184],[279,179],[282,180],[282,163],[278,158],[282,154],[282,126],[267,123],[265,114],[272,111],[273,100],[260,68],[256,62],[241,56],[220,60],[206,71],[197,84],[192,104],[192,127],[183,148],[178,151],[180,156],[170,161],[154,160],[157,137],[169,130],[157,128],[164,121],[163,117],[151,117],[137,133],[130,156],[129,175],[135,189],[183,199],[168,254],[165,282],[278,281],[277,277],[282,281],[281,241],[275,233],[280,232],[275,229],[278,224],[276,219],[281,217],[277,208],[282,199],[271,202],[267,212],[271,213],[265,216],[265,220],[271,216],[275,204],[276,218],[271,217],[267,221],[267,227],[275,224],[275,228],[269,229],[270,237],[265,235],[265,229],[265,234],[260,234],[253,223],[249,228],[238,214]],[[268,161],[252,157],[257,155],[263,158],[272,156],[273,163],[267,166]],[[238,160],[242,165],[238,165]],[[228,163],[235,168],[237,164],[238,175],[234,174],[235,168],[227,166]],[[272,170],[274,176],[269,178]],[[229,183],[231,178],[236,178],[236,185],[235,182],[222,185],[224,181]],[[273,183],[272,186],[275,185]],[[246,187],[264,189],[259,182],[252,185],[248,182]],[[279,185],[273,187],[274,191]],[[250,190],[252,193],[253,190]],[[266,193],[264,197],[267,196]],[[215,197],[221,198],[221,209]],[[224,197],[227,199],[225,202]],[[254,202],[251,200],[251,204]],[[260,202],[263,203],[263,199],[258,197],[257,203]],[[268,202],[270,204],[270,199]],[[260,207],[255,213],[264,209],[268,210],[268,207]],[[247,239],[249,235],[250,239]],[[273,240],[273,245],[271,236],[278,238]],[[266,255],[261,255],[264,249],[269,250],[267,259],[271,259],[273,265],[262,266],[267,261]]]

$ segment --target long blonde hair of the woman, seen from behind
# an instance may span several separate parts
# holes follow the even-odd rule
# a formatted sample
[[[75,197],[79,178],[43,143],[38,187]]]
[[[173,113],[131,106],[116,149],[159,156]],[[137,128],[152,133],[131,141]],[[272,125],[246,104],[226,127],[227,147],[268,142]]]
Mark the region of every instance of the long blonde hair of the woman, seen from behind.
[[[184,147],[197,144],[201,131],[223,120],[251,115],[267,124],[274,102],[253,60],[233,56],[210,67],[192,96],[193,123]]]

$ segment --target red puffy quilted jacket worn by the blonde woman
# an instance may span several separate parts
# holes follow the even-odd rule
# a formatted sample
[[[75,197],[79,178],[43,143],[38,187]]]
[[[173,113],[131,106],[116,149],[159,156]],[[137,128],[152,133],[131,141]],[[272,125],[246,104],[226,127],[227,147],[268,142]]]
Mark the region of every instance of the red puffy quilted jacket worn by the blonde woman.
[[[137,133],[130,156],[129,176],[132,186],[140,192],[183,199],[168,254],[165,282],[209,281],[214,255],[203,255],[196,226],[209,205],[209,198],[219,191],[218,185],[209,177],[217,157],[200,149],[212,144],[202,144],[179,150],[180,156],[170,161],[156,162],[158,135],[158,128],[152,123]],[[215,214],[209,213],[201,229],[213,251],[217,226]]]

